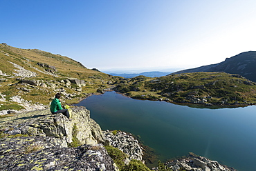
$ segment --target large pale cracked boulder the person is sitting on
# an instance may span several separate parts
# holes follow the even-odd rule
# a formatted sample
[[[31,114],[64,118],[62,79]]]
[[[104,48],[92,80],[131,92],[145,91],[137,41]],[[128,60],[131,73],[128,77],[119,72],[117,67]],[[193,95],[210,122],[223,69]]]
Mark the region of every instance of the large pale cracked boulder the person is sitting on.
[[[74,139],[80,144],[105,142],[100,126],[90,118],[89,110],[83,107],[73,108],[71,121],[63,114],[51,114],[46,109],[7,118],[0,126],[8,134],[55,137],[62,140],[65,147],[73,143]]]

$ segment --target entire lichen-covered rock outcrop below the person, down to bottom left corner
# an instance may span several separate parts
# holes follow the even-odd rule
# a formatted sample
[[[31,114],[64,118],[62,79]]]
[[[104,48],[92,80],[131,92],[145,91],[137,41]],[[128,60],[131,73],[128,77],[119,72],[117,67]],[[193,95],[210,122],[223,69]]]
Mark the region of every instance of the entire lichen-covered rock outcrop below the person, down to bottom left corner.
[[[72,108],[71,119],[48,109],[1,119],[1,132],[18,138],[0,139],[0,170],[118,170],[89,110]]]

